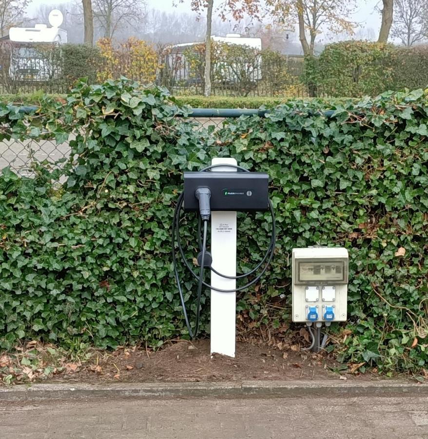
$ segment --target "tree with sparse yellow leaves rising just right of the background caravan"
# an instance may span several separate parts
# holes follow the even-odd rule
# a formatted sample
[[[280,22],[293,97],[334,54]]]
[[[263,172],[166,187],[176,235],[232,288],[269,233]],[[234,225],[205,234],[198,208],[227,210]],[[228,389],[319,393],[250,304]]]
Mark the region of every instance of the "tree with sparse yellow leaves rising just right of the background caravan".
[[[356,0],[266,0],[266,3],[274,21],[298,22],[299,40],[305,55],[313,55],[316,37],[321,32],[352,34],[355,27],[349,15],[355,10]]]

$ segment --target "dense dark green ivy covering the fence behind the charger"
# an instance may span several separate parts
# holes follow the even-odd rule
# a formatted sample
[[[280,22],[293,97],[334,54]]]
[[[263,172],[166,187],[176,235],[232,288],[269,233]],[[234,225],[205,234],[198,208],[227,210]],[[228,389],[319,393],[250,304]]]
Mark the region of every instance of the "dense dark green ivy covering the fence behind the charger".
[[[160,346],[186,337],[172,273],[173,208],[184,170],[231,156],[270,174],[278,235],[269,272],[239,295],[241,324],[280,337],[291,321],[292,248],[343,245],[350,317],[346,329],[333,328],[338,359],[361,362],[362,370],[421,371],[428,361],[427,103],[422,90],[335,106],[288,101],[266,118],[227,120],[215,132],[194,129],[188,107],[165,90],[125,79],[80,82],[66,104],[46,98],[35,116],[2,105],[0,140],[76,137],[61,170],[35,165],[34,178],[2,171],[0,346],[26,338]],[[239,271],[262,257],[269,221],[269,214],[239,215]],[[194,216],[182,228],[192,260]],[[195,284],[182,275],[193,302]],[[205,332],[208,300],[205,291]]]

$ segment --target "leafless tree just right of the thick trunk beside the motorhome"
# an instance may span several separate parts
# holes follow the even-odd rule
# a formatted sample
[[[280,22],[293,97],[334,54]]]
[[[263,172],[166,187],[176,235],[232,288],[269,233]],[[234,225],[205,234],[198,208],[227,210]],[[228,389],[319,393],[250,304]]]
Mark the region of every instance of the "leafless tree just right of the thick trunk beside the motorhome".
[[[124,24],[134,25],[144,20],[145,0],[93,0],[94,17],[105,38],[112,38]]]

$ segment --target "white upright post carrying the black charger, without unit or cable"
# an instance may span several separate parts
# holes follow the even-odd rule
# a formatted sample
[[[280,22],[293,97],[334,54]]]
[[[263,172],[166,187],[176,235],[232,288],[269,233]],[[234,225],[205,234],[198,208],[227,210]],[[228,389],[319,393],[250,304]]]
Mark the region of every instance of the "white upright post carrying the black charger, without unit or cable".
[[[237,164],[235,159],[215,158],[211,164]],[[236,172],[232,167],[214,168],[215,172]],[[236,212],[211,212],[211,255],[213,268],[227,276],[236,276]],[[211,285],[222,290],[236,288],[235,279],[211,272]],[[235,356],[236,292],[211,290],[211,354]]]

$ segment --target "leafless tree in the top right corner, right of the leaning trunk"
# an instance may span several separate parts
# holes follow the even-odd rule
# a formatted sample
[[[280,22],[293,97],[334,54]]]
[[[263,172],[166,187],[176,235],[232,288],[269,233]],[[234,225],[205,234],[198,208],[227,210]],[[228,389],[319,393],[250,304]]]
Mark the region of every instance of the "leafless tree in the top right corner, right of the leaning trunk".
[[[427,36],[428,0],[395,0],[391,36],[411,46]]]

